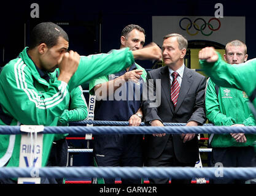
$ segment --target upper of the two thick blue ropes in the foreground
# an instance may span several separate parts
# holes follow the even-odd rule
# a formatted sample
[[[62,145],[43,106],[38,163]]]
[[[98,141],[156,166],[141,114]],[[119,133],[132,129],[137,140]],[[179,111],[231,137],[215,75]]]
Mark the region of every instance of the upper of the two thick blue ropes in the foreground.
[[[227,126],[49,126],[44,127],[42,134],[256,134],[256,126],[227,127]],[[21,134],[20,126],[0,126],[0,134]]]

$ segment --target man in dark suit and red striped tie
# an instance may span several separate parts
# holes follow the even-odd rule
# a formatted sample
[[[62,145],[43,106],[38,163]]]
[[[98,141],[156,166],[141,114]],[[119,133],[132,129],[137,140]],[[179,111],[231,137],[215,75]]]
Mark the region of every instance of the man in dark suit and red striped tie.
[[[164,37],[162,52],[164,67],[148,72],[148,80],[161,80],[161,94],[155,100],[142,103],[144,119],[151,126],[163,123],[187,123],[186,126],[200,126],[206,121],[204,91],[206,78],[184,65],[187,40],[180,34]],[[159,89],[158,89],[159,91]],[[155,104],[156,105],[156,104]],[[145,166],[194,167],[199,160],[198,138],[195,134],[150,134],[145,135]],[[150,183],[168,183],[169,179],[149,179]],[[172,183],[190,183],[172,180]]]

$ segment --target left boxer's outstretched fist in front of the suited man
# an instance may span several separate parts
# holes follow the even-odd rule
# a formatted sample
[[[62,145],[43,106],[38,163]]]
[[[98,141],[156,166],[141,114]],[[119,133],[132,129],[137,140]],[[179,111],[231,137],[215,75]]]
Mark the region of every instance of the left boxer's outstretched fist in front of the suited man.
[[[161,61],[162,59],[162,53],[161,48],[158,47],[156,43],[149,43],[145,47],[139,50],[133,50],[132,51],[134,59],[156,59],[157,61]]]

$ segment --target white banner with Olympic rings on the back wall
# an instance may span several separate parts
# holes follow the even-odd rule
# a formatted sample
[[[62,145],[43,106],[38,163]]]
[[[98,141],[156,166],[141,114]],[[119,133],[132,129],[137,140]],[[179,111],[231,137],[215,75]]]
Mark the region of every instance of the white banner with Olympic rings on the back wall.
[[[209,40],[226,45],[234,39],[246,41],[246,17],[153,16],[152,40],[162,45],[163,36],[178,33],[187,40]]]

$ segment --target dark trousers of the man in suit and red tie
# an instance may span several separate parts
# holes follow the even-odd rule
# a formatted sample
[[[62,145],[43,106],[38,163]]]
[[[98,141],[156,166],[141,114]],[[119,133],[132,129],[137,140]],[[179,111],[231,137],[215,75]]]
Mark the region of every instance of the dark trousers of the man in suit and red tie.
[[[177,160],[174,154],[173,137],[170,135],[168,142],[163,150],[163,153],[152,159],[146,157],[145,166],[147,167],[194,167],[195,163],[184,164]],[[171,184],[190,184],[192,179],[171,179]],[[168,184],[169,178],[166,179],[152,179],[149,178],[150,184]]]

